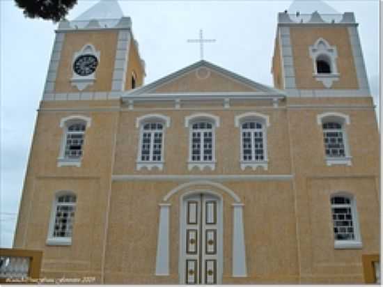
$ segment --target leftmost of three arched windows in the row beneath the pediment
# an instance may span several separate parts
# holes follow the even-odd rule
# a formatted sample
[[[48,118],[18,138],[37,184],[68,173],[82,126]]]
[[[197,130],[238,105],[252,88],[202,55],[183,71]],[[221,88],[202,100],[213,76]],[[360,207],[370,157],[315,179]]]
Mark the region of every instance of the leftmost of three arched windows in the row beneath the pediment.
[[[137,118],[140,129],[137,170],[143,167],[162,170],[164,165],[164,130],[169,127],[170,118],[160,114],[150,114]]]

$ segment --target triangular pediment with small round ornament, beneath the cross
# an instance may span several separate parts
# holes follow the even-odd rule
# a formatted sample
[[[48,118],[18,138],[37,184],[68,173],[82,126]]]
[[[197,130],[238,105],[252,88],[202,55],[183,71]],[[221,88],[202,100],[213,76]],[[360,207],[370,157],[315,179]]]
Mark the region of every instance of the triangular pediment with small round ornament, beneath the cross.
[[[272,87],[258,84],[245,77],[213,65],[198,61],[169,76],[137,88],[126,95],[183,93],[269,93],[283,94]]]

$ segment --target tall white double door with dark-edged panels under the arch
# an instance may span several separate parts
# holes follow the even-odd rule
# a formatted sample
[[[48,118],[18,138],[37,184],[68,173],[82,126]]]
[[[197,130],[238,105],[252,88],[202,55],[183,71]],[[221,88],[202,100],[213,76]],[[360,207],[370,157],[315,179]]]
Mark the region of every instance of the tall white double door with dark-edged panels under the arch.
[[[210,194],[194,194],[183,202],[181,284],[221,283],[220,203]]]

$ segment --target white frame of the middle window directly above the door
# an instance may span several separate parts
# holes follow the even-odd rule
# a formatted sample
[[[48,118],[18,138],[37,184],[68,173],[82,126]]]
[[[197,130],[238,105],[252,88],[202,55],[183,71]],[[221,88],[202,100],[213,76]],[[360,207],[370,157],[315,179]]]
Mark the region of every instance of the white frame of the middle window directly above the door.
[[[195,161],[192,160],[192,149],[193,149],[193,132],[206,132],[207,130],[193,130],[194,123],[200,123],[200,122],[206,122],[210,123],[212,125],[212,160],[210,161]],[[185,127],[189,128],[189,160],[187,162],[187,169],[191,171],[196,167],[200,171],[203,171],[203,169],[208,168],[212,171],[215,169],[216,161],[216,128],[219,127],[219,117],[214,116],[212,114],[205,114],[205,113],[198,113],[198,114],[192,114],[190,116],[185,117]],[[201,152],[203,151],[203,147],[201,147]],[[201,159],[203,158],[203,153],[201,153]]]

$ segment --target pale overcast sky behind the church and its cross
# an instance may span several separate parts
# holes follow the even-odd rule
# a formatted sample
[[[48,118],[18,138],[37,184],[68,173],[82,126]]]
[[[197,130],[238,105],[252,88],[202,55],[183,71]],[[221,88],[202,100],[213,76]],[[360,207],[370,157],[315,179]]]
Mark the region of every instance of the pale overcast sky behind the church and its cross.
[[[119,1],[125,16],[132,17],[134,36],[146,61],[146,84],[198,61],[199,46],[187,43],[187,39],[197,38],[199,29],[203,29],[205,38],[217,40],[205,45],[207,61],[270,86],[276,17],[291,2]],[[94,3],[79,0],[68,18],[74,19]],[[294,7],[301,7],[301,13],[331,13],[329,8],[311,3]],[[370,88],[376,98],[379,1],[326,3],[340,13],[355,13]],[[0,10],[0,247],[11,247],[56,25],[24,18],[13,0],[0,1]]]

